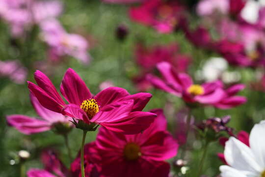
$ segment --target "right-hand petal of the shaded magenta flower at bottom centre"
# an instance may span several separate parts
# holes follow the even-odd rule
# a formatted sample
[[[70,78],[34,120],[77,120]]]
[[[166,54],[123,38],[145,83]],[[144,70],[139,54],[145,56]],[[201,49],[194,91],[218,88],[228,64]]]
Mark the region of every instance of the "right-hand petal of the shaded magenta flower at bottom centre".
[[[178,143],[166,131],[160,131],[152,136],[141,145],[143,158],[163,161],[174,157],[177,154]]]

